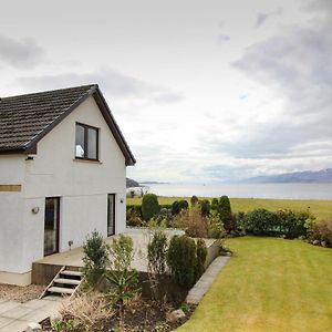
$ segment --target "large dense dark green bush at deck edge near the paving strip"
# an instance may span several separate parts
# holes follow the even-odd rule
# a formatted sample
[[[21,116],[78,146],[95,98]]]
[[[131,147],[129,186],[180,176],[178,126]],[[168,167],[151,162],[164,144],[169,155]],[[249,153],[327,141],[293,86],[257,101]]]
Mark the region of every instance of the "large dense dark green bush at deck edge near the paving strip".
[[[196,281],[196,245],[187,236],[173,236],[167,252],[167,264],[175,281],[190,289]]]

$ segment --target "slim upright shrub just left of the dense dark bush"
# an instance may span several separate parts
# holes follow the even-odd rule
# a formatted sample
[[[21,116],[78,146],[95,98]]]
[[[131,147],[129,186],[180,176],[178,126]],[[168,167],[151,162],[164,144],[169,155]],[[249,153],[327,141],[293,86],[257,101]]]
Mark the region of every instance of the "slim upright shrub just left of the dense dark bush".
[[[156,231],[147,245],[148,269],[154,274],[166,271],[167,237],[163,231]]]

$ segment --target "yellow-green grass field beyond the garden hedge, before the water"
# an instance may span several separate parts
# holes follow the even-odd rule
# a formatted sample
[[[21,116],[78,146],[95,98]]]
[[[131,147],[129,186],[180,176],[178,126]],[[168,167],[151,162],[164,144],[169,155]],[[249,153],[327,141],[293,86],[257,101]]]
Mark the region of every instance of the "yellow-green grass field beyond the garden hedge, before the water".
[[[188,197],[158,197],[159,204],[172,204],[175,200],[187,199]],[[138,205],[142,203],[142,198],[127,198],[127,205]],[[230,199],[232,211],[250,211],[255,208],[266,208],[269,210],[278,209],[293,209],[293,210],[307,210],[318,218],[332,218],[332,200],[302,200],[302,199],[262,199],[262,198],[231,198]]]

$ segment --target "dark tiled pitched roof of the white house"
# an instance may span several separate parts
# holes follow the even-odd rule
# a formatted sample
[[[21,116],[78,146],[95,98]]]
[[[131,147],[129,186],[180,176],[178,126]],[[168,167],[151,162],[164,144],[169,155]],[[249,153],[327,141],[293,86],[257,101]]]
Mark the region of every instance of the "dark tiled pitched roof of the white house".
[[[93,95],[127,165],[135,158],[96,84],[45,91],[0,101],[0,153],[35,153],[37,143],[90,95]]]

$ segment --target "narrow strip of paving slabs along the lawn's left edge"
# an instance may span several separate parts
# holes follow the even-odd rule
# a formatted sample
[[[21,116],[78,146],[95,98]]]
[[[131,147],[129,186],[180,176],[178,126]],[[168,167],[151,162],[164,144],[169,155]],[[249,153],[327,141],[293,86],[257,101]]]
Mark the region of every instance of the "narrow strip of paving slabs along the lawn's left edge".
[[[188,295],[186,298],[187,303],[198,304],[200,302],[216,277],[227,263],[228,259],[229,257],[227,256],[219,256],[210,263],[205,273],[199,278],[196,284],[188,292]]]

